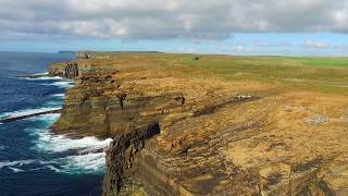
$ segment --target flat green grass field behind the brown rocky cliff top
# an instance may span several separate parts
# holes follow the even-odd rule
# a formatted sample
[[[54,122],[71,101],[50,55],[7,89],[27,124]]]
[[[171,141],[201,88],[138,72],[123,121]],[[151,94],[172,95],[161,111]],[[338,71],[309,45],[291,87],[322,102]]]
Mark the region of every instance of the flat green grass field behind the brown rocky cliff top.
[[[287,87],[348,94],[348,58],[235,57],[160,52],[102,52],[101,54],[112,58],[146,57],[156,60],[154,63],[160,63],[163,69],[196,68],[222,79],[278,82]],[[199,59],[196,60],[196,57]]]

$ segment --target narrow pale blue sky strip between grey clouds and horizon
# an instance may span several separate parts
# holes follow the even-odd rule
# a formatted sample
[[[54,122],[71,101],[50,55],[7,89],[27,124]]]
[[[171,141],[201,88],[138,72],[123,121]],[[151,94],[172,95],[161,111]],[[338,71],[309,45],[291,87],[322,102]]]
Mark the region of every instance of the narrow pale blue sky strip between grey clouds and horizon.
[[[348,36],[345,34],[232,34],[217,40],[3,40],[2,51],[102,50],[102,51],[165,51],[251,56],[347,56]]]

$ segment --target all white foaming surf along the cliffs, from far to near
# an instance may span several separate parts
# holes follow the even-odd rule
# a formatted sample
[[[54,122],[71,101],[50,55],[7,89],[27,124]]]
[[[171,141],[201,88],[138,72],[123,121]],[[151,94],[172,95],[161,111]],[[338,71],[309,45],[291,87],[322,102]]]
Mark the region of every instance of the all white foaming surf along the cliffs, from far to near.
[[[47,74],[47,73],[42,73]],[[42,74],[35,74],[42,75]],[[62,88],[73,86],[72,81],[63,79],[60,76],[38,76],[28,77],[27,79],[33,81],[54,81],[47,85],[57,85]],[[52,97],[64,97],[64,94],[54,94]],[[36,108],[36,109],[24,109],[18,111],[5,112],[0,114],[0,119],[5,118],[18,118],[24,115],[32,115],[40,112],[48,112],[58,110],[61,108],[50,107],[57,106],[60,102],[50,101],[44,105],[48,107]],[[107,138],[100,140],[96,137],[83,137],[83,138],[71,138],[66,135],[54,135],[50,132],[49,126],[59,119],[60,114],[42,114],[39,117],[30,117],[28,120],[33,122],[39,122],[42,124],[42,128],[27,127],[26,132],[30,135],[37,136],[35,140],[35,150],[44,151],[46,154],[60,154],[62,156],[55,156],[58,158],[47,160],[15,160],[15,161],[2,161],[0,162],[1,169],[9,169],[13,172],[24,171],[36,171],[42,169],[50,169],[54,172],[63,173],[103,173],[105,168],[105,150],[109,147],[112,139]],[[0,146],[0,149],[5,149],[5,146]],[[33,168],[33,166],[41,166],[39,168]]]

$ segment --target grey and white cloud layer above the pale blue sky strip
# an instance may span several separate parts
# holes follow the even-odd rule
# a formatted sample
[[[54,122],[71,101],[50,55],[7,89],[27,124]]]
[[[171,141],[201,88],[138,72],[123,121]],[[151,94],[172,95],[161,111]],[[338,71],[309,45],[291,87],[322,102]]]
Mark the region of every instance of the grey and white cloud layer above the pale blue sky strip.
[[[221,40],[235,33],[348,34],[347,24],[348,0],[0,1],[0,39],[7,40]]]

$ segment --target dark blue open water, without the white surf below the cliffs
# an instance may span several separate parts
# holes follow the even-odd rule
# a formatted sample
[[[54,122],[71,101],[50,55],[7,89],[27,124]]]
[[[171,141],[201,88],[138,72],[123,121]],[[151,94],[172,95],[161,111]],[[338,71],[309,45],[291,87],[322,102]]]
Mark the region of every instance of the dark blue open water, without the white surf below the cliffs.
[[[25,79],[17,76],[44,72],[50,63],[69,61],[73,56],[0,52],[0,57],[1,114],[62,107],[64,86],[67,85],[53,83],[67,79]],[[0,125],[0,195],[101,195],[102,173],[82,171],[72,174],[62,168],[76,154],[37,149],[39,138],[34,132],[49,132],[58,118],[59,114],[46,114]]]

